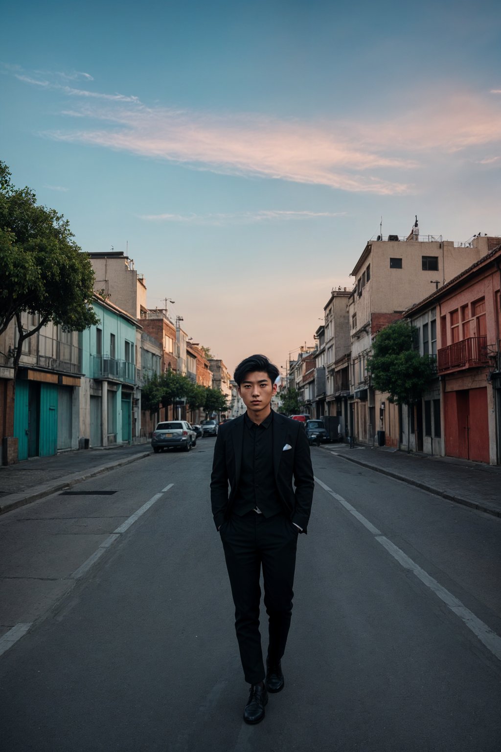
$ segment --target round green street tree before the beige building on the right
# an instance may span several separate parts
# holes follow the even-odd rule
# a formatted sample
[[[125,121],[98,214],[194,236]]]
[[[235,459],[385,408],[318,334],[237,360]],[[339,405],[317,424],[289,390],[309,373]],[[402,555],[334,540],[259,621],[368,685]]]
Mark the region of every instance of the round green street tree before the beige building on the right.
[[[367,368],[373,387],[388,392],[389,402],[407,406],[407,451],[410,440],[410,414],[436,377],[433,356],[420,355],[413,347],[415,327],[397,321],[376,335]]]

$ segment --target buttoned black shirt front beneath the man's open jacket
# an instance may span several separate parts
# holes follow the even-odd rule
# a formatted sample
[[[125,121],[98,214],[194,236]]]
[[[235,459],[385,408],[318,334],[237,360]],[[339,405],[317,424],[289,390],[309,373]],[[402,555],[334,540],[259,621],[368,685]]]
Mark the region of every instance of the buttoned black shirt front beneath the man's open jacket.
[[[273,472],[273,411],[257,425],[244,417],[242,462],[233,511],[242,516],[258,508],[264,517],[282,511]]]

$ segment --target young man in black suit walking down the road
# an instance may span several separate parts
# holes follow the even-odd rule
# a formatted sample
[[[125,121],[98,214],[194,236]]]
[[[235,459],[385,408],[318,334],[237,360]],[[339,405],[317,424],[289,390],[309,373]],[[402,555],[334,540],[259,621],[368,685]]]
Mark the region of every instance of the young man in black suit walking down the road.
[[[270,407],[279,381],[276,365],[252,355],[237,366],[234,380],[247,411],[219,426],[210,496],[235,604],[240,659],[251,685],[243,720],[259,723],[267,693],[285,684],[281,660],[291,624],[297,535],[306,533],[314,482],[303,425]],[[259,632],[261,566],[266,672]]]

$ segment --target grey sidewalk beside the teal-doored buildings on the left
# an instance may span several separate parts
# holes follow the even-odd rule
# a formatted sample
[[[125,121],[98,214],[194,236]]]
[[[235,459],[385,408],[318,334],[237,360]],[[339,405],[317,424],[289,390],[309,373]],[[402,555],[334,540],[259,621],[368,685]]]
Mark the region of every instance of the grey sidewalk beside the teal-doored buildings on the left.
[[[0,514],[150,453],[148,442],[131,447],[68,451],[51,457],[32,457],[16,465],[0,465]]]

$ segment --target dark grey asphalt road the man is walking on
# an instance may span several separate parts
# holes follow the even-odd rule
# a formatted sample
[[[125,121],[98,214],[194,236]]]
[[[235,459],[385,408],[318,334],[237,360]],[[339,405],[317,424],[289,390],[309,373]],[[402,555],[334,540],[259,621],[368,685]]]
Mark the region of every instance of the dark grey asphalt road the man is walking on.
[[[316,447],[285,690],[243,723],[212,450],[0,520],[2,593],[35,621],[0,656],[2,752],[497,752],[501,520]]]

